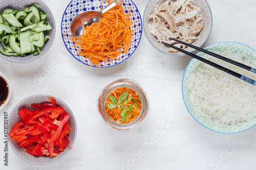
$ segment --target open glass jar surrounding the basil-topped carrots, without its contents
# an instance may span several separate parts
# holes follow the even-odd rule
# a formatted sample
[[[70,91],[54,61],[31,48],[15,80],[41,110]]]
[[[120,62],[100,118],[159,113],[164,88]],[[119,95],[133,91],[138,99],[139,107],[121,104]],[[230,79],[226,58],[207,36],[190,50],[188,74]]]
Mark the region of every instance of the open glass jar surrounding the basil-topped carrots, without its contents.
[[[106,99],[108,98],[110,92],[118,87],[127,87],[134,90],[139,95],[141,100],[142,107],[139,116],[135,120],[133,120],[133,122],[128,124],[116,123],[109,117],[109,115],[105,111]],[[106,125],[109,125],[110,127],[112,127],[112,129],[117,130],[119,132],[128,131],[140,125],[145,120],[146,115],[148,114],[149,105],[150,104],[147,99],[146,92],[136,81],[131,79],[119,79],[109,84],[100,91],[97,97],[97,110],[102,116],[104,122],[106,123]]]

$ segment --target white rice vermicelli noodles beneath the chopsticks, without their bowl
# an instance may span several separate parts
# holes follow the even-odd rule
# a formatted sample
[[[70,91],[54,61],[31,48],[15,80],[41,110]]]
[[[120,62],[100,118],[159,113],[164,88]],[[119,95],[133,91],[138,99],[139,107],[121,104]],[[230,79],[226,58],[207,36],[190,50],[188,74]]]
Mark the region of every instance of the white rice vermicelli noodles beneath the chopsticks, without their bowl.
[[[235,50],[215,53],[254,68],[256,66],[255,60]],[[250,71],[206,54],[202,56],[256,80],[256,74]],[[193,71],[188,80],[188,89],[195,110],[220,127],[243,126],[256,116],[256,87],[208,64],[201,63]]]

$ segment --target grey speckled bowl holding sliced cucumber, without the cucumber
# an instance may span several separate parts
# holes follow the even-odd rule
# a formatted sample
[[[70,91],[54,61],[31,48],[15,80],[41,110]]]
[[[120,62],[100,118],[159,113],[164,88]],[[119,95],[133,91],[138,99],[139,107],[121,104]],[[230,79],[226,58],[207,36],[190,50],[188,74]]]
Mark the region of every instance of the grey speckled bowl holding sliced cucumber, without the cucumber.
[[[6,8],[11,8],[11,9],[17,9],[17,10],[24,10],[24,8],[26,6],[29,6],[33,3],[38,3],[40,5],[40,10],[44,11],[47,14],[46,17],[46,21],[48,21],[50,23],[50,25],[53,27],[52,30],[49,31],[45,31],[46,35],[50,36],[50,40],[42,47],[40,48],[41,53],[37,56],[34,56],[33,54],[28,55],[26,57],[9,57],[9,56],[5,56],[3,54],[0,53],[0,57],[13,62],[13,63],[28,63],[31,61],[34,61],[38,58],[40,58],[41,56],[43,56],[51,47],[54,37],[55,37],[55,20],[53,17],[53,14],[51,12],[51,10],[48,8],[48,6],[41,0],[8,0],[8,1],[2,1],[0,3],[0,13],[2,14],[2,12],[4,11],[4,9]]]

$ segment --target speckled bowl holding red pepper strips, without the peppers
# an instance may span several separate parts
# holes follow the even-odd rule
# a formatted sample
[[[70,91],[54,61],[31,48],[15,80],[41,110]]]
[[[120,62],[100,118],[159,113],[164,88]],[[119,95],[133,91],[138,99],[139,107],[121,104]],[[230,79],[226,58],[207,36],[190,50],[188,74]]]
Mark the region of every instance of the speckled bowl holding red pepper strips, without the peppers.
[[[41,95],[33,95],[33,96],[30,96],[30,97],[24,99],[23,101],[19,102],[10,114],[9,123],[8,123],[8,127],[9,127],[8,131],[10,132],[11,128],[21,120],[19,115],[18,115],[19,110],[21,110],[23,108],[27,108],[29,110],[30,109],[34,110],[34,107],[31,106],[30,104],[33,104],[33,103],[38,103],[39,104],[39,103],[42,103],[42,102],[50,102],[50,100],[47,98],[47,96],[51,96],[51,95],[42,95],[42,94]],[[58,98],[55,98],[54,96],[51,96],[51,97],[56,100],[57,105],[59,107],[63,107],[64,110],[70,115],[70,117],[69,117],[69,123],[70,123],[69,140],[70,140],[71,145],[73,146],[74,143],[75,143],[76,130],[77,130],[75,116],[72,113],[71,109],[64,102],[62,102]],[[29,163],[38,164],[38,165],[46,165],[46,164],[57,162],[58,160],[65,157],[69,153],[69,151],[71,150],[68,146],[65,149],[65,151],[61,152],[56,157],[53,157],[53,158],[50,158],[49,156],[35,157],[35,156],[32,156],[32,155],[28,154],[27,152],[23,151],[22,147],[19,147],[17,145],[17,142],[13,141],[10,137],[9,137],[9,143],[11,145],[12,150],[20,158],[22,158],[23,160],[25,160]]]

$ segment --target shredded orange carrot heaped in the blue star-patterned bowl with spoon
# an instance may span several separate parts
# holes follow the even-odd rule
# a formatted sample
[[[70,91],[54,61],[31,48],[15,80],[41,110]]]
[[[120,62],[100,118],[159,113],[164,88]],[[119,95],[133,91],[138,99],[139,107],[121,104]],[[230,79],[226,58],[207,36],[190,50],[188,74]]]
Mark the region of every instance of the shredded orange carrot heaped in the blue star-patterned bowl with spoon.
[[[109,4],[113,2],[106,1]],[[74,46],[79,47],[78,55],[86,57],[86,60],[90,58],[90,65],[95,64],[97,67],[100,67],[101,61],[120,60],[117,56],[127,53],[131,46],[133,23],[130,14],[131,9],[125,14],[122,5],[118,4],[105,12],[99,22],[83,27],[81,37],[70,37],[75,42]]]

